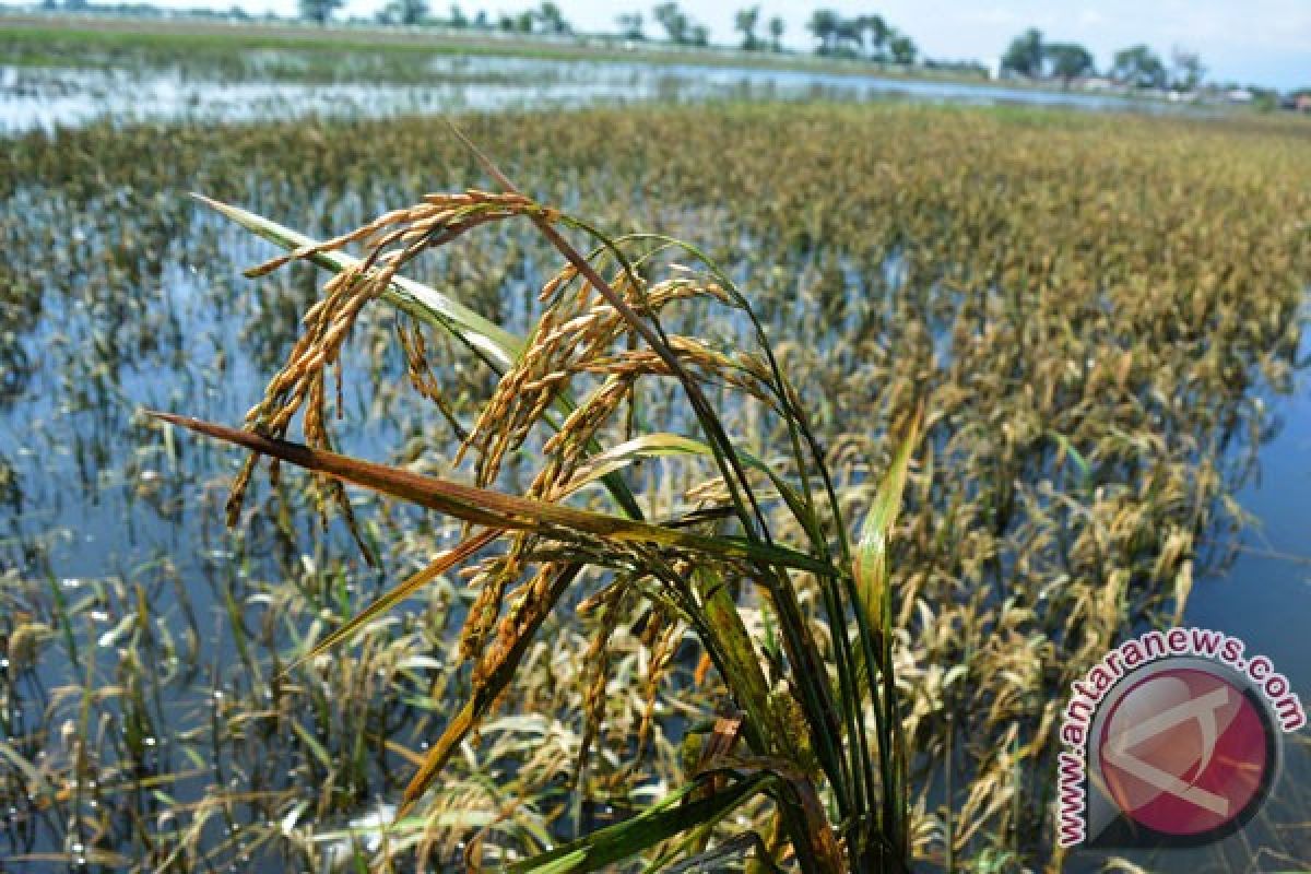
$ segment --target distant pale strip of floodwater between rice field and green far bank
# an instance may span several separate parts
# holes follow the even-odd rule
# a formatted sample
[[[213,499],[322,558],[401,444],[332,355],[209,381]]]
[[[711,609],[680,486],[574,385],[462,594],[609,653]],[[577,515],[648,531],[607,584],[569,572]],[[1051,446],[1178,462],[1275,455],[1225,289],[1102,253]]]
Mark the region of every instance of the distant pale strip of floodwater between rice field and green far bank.
[[[397,84],[224,83],[177,71],[0,66],[0,132],[97,118],[253,121],[302,115],[392,117],[623,101],[911,100],[1067,106],[1091,111],[1198,111],[1116,94],[918,81],[877,75],[695,64],[438,58],[433,81]]]

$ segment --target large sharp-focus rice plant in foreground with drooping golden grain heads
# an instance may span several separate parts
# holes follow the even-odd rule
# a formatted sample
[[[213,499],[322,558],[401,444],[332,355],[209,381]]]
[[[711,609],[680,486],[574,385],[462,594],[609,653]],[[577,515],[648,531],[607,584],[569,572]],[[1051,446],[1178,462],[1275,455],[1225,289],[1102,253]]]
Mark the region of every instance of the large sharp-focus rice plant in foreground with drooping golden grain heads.
[[[305,655],[325,655],[420,587],[452,567],[469,567],[468,584],[477,598],[464,622],[460,655],[472,666],[471,693],[406,786],[400,816],[421,802],[458,747],[496,712],[543,621],[569,601],[604,617],[589,650],[598,667],[581,765],[603,712],[608,638],[621,616],[615,607],[636,598],[649,611],[645,621],[659,629],[657,651],[663,658],[653,658],[650,670],[661,670],[686,626],[726,685],[733,709],[714,725],[684,786],[619,824],[515,861],[513,870],[590,871],[661,846],[662,864],[676,862],[680,870],[735,853],[754,853],[768,867],[794,858],[804,871],[905,870],[906,750],[893,671],[888,541],[918,418],[905,423],[902,449],[859,542],[850,542],[825,452],[737,284],[690,244],[649,232],[607,235],[523,195],[490,162],[486,168],[502,191],[427,195],[323,244],[212,203],[291,249],[254,275],[291,259],[316,261],[336,275],[305,313],[300,341],[248,414],[245,431],[156,415],[254,453],[233,487],[229,523],[240,518],[257,457],[266,456],[274,476],[279,463],[317,474],[324,497],[347,519],[353,511],[343,484],[467,524],[463,542]],[[439,291],[400,276],[425,250],[510,220],[535,225],[564,261],[539,295],[543,312],[527,338],[510,337]],[[587,240],[590,252],[583,254],[569,235]],[[342,254],[353,242],[363,245],[363,258]],[[670,256],[696,266],[669,263]],[[461,456],[472,456],[472,484],[333,452],[329,371],[361,309],[379,299],[406,317],[399,334],[408,337],[402,342],[410,379],[447,418],[450,406],[425,354],[426,330],[448,332],[498,375],[451,461],[455,466]],[[745,342],[721,350],[705,338],[666,330],[669,311],[695,305],[737,311]],[[340,370],[336,377],[340,383]],[[644,413],[646,385],[659,383],[676,385],[688,413],[683,421],[694,434],[635,426],[650,421]],[[755,414],[776,419],[787,431],[788,452],[760,459],[730,436],[711,400],[724,390]],[[284,439],[298,413],[304,444]],[[629,439],[603,446],[600,438],[624,417]],[[534,446],[545,431],[549,436]],[[539,464],[526,495],[490,490],[507,456],[528,446]],[[624,470],[662,457],[700,465],[705,476],[675,514],[652,520],[650,503],[644,507]],[[606,512],[568,503],[593,485],[608,493]],[[791,518],[802,540],[779,539],[780,514]],[[354,522],[350,525],[355,529]],[[771,613],[779,637],[772,658],[743,621],[742,590]],[[800,605],[805,590],[822,601],[831,636],[825,645]],[[729,843],[711,840],[717,824],[756,797],[772,802],[760,831]]]

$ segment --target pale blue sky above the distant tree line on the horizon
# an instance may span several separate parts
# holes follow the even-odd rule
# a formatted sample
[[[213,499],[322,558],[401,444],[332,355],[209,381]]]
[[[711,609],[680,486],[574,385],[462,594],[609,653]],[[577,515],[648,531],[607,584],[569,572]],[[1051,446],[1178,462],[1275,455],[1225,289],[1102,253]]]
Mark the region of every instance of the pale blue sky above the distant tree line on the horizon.
[[[159,0],[161,5],[224,8],[233,0]],[[442,14],[450,0],[429,0]],[[249,12],[290,14],[295,0],[235,0]],[[385,0],[347,0],[346,14],[372,14]],[[578,30],[615,30],[615,16],[642,12],[648,33],[658,33],[650,16],[656,0],[556,0]],[[733,13],[759,5],[762,21],[780,16],[787,22],[784,42],[809,48],[805,22],[818,8],[843,14],[877,12],[909,34],[920,51],[940,59],[995,62],[1009,41],[1025,28],[1038,28],[1054,42],[1079,42],[1099,67],[1125,46],[1147,43],[1168,59],[1173,47],[1196,51],[1215,81],[1239,81],[1280,89],[1311,85],[1311,0],[721,0],[679,5],[711,29],[714,42],[735,42]],[[486,9],[493,18],[538,3],[515,0],[460,0],[465,13]]]

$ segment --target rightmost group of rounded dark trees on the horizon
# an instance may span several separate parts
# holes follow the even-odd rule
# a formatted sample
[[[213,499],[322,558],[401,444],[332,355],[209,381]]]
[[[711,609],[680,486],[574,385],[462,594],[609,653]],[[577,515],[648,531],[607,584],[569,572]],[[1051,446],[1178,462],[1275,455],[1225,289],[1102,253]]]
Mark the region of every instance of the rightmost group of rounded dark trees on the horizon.
[[[1002,55],[1002,72],[1068,84],[1076,79],[1093,77],[1099,71],[1092,52],[1083,46],[1047,42],[1041,30],[1030,28],[1011,41]],[[1173,51],[1167,67],[1150,47],[1138,45],[1117,51],[1105,75],[1126,88],[1192,92],[1202,84],[1206,67],[1196,52],[1184,48]]]

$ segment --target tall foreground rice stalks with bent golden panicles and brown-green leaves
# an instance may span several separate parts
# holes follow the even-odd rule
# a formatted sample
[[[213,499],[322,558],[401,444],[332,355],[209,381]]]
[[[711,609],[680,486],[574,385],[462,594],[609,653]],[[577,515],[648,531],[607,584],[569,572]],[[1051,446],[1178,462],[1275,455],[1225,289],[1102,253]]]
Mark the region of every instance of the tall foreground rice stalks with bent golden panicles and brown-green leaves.
[[[741,803],[747,797],[743,788],[754,788],[758,780],[750,774],[763,768],[760,773],[772,774],[776,781],[767,794],[776,805],[777,822],[802,870],[902,870],[907,853],[902,810],[906,767],[899,729],[894,727],[898,717],[893,701],[885,542],[901,501],[901,484],[915,442],[914,428],[903,442],[893,478],[867,522],[856,553],[859,560],[855,563],[850,558],[842,561],[851,553],[846,546],[846,525],[840,520],[832,477],[823,468],[825,460],[809,423],[800,414],[794,390],[763,342],[759,322],[722,271],[712,266],[713,280],[675,278],[648,284],[635,273],[633,259],[648,257],[637,246],[649,248],[650,237],[629,237],[628,246],[637,253],[631,257],[616,238],[553,208],[538,206],[514,190],[490,164],[486,166],[506,187],[506,194],[468,190],[460,195],[429,195],[417,207],[389,212],[324,244],[303,242],[254,271],[262,275],[294,258],[324,258],[325,253],[358,241],[364,241],[370,253],[362,261],[340,263],[340,273],[325,287],[325,296],[308,311],[300,342],[269,384],[265,400],[246,418],[253,431],[172,414],[155,415],[326,474],[336,482],[364,486],[486,528],[375,601],[321,641],[313,653],[345,639],[455,561],[472,557],[493,540],[506,536],[506,552],[476,565],[471,580],[479,598],[465,620],[461,653],[473,664],[473,694],[410,781],[401,815],[433,784],[455,744],[486,718],[493,702],[513,680],[541,622],[565,591],[582,582],[579,574],[590,566],[650,578],[663,591],[656,605],[673,605],[704,645],[742,708],[743,736],[753,752],[732,767],[728,763],[739,760],[730,751],[708,763],[721,770],[721,776],[728,776],[726,785],[735,789],[724,789],[720,781],[713,803],[712,799],[692,803],[694,810],[700,810],[697,805],[705,806],[705,814],[690,818],[683,806],[676,816],[669,818],[667,826],[659,815],[656,826],[640,816],[614,827],[615,835],[621,836],[619,849],[597,849],[599,836],[608,833],[603,831],[544,857],[541,864],[551,865],[549,870],[594,870],[617,858],[611,853],[631,854],[654,848],[692,823],[705,826],[707,818],[717,818],[728,810],[721,805]],[[290,235],[270,231],[260,219],[220,208],[246,225],[264,225],[266,236],[291,241]],[[528,339],[518,347],[518,355],[501,372],[497,388],[463,440],[461,455],[472,452],[476,456],[479,485],[464,486],[332,452],[325,430],[324,368],[340,358],[342,342],[363,307],[393,294],[391,288],[399,270],[422,250],[442,246],[480,225],[513,218],[532,221],[566,265],[544,287],[545,309]],[[556,225],[583,231],[598,248],[591,256],[582,256]],[[671,240],[658,242],[662,248],[678,245]],[[606,261],[617,266],[612,280],[600,273],[599,265]],[[569,292],[574,286],[577,288]],[[662,312],[691,300],[746,313],[762,341],[762,355],[734,358],[714,352],[695,337],[670,334],[662,324]],[[434,321],[451,326],[439,318]],[[454,329],[459,333],[471,322],[477,324],[473,318],[463,318]],[[649,355],[635,343],[645,345]],[[615,355],[610,351],[614,347],[625,351]],[[581,401],[565,401],[569,413],[562,421],[551,418],[551,411],[566,398],[564,392],[570,383],[598,376],[602,381],[594,383]],[[636,438],[608,452],[594,451],[607,432],[603,426],[616,419],[629,398],[636,398],[638,383],[661,377],[676,380],[705,442],[657,434]],[[734,444],[705,394],[704,387],[714,381],[742,392],[749,401],[763,402],[787,422],[793,435],[794,468],[780,473]],[[422,394],[431,396],[433,388],[426,387]],[[308,446],[282,439],[291,418],[302,410]],[[543,446],[541,469],[528,487],[528,497],[514,498],[481,487],[497,478],[506,453],[522,447],[543,425],[555,434]],[[628,461],[642,455],[669,457],[671,453],[707,459],[717,469],[718,476],[712,482],[717,482],[722,493],[707,504],[711,493],[701,490],[705,497],[688,516],[688,523],[700,528],[705,523],[696,522],[697,514],[711,508],[728,511],[724,522],[714,523],[720,533],[694,533],[676,522],[657,525],[558,503],[597,478],[606,481],[614,493],[612,484],[623,482],[619,477]],[[229,507],[240,506],[250,469],[248,463],[235,484]],[[749,470],[763,474],[771,487],[760,491]],[[825,482],[830,512],[835,516],[831,535],[821,522],[812,480]],[[341,491],[334,494],[343,501]],[[620,490],[616,497],[623,494]],[[806,532],[805,548],[784,546],[775,540],[764,512],[766,502],[776,502],[781,511],[792,514]],[[620,508],[624,508],[621,501]],[[839,541],[836,553],[831,545],[835,539]],[[530,570],[531,565],[538,565],[538,570]],[[800,605],[798,583],[789,569],[812,574],[823,591],[829,628],[839,642],[835,666],[813,637]],[[737,580],[760,592],[781,630],[787,679],[779,688],[771,688],[760,671],[756,645],[732,595]],[[852,625],[853,638],[848,637]],[[598,639],[603,646],[603,639]],[[659,666],[674,651],[674,638],[666,634],[661,639],[663,642],[653,651],[652,677],[659,676]],[[865,683],[856,681],[857,664]],[[836,687],[834,671],[839,679]],[[648,696],[653,696],[656,688],[649,680]],[[865,722],[867,693],[874,713],[872,736]],[[654,698],[649,697],[648,715],[638,730],[638,748],[649,730],[652,701]],[[877,764],[871,756],[877,756]],[[821,802],[819,791],[830,801]],[[842,841],[826,812],[830,805],[836,810],[836,823],[843,824]]]

